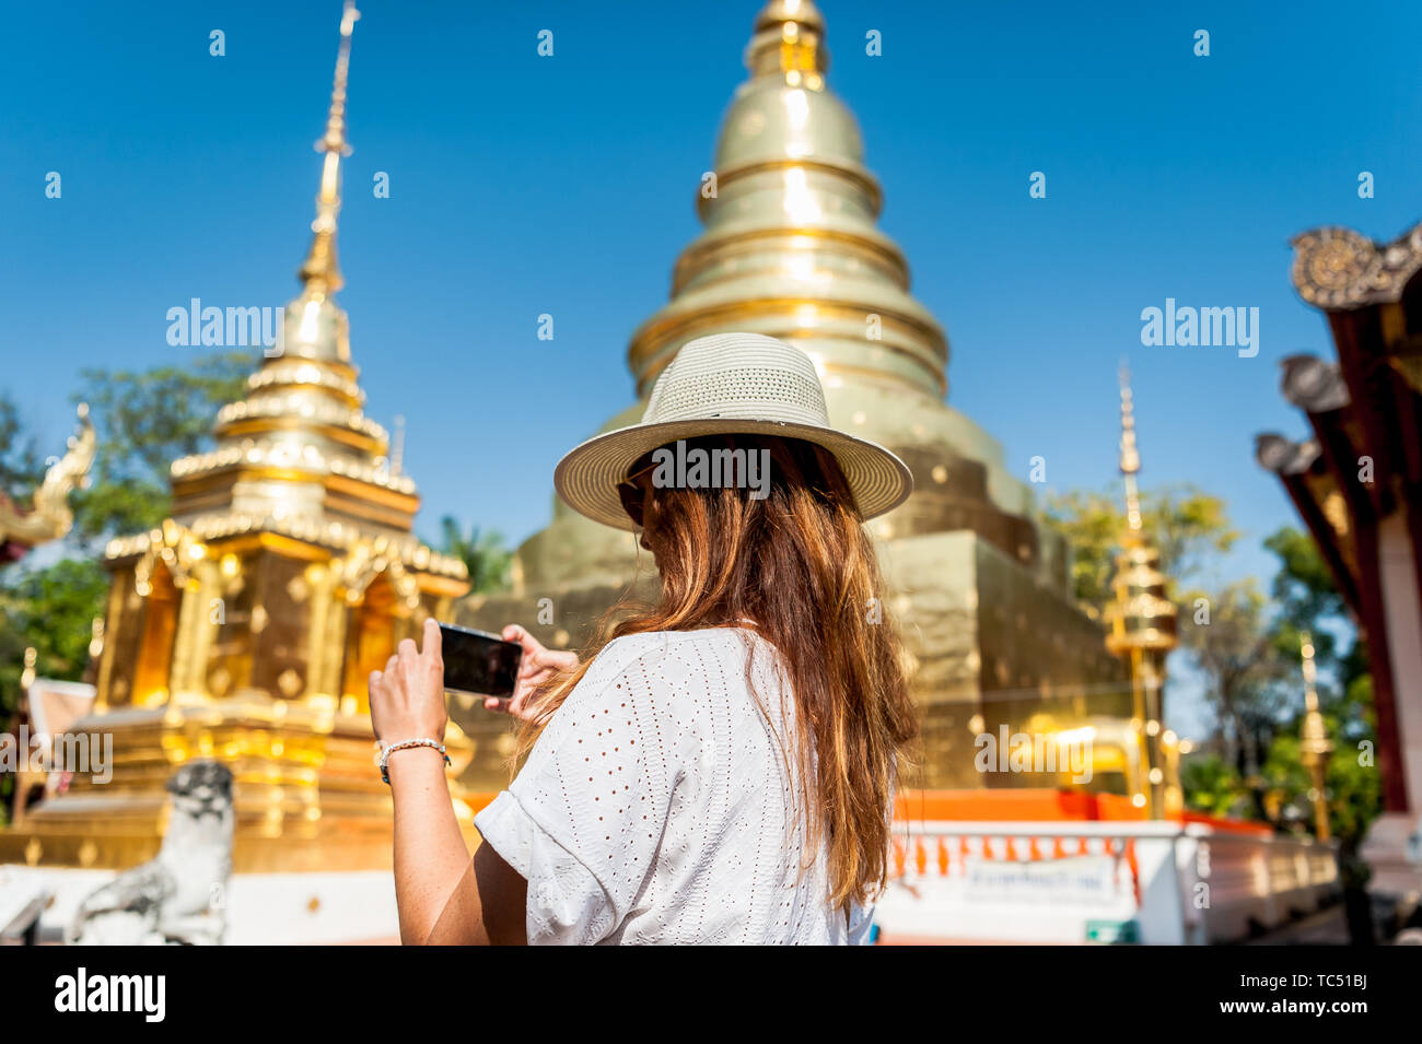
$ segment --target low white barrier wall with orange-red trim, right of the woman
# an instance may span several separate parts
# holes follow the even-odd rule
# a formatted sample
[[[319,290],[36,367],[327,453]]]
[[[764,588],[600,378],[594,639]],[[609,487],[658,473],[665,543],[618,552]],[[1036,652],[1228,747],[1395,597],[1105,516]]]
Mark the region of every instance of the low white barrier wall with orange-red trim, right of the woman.
[[[1331,845],[1179,822],[894,824],[884,942],[1236,942],[1338,889]]]

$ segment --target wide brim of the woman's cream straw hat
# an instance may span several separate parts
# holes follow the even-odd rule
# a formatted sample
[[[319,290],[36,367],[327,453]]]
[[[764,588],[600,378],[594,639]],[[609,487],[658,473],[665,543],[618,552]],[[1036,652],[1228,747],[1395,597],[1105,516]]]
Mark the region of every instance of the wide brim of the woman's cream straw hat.
[[[855,509],[865,521],[892,511],[913,493],[909,466],[876,442],[818,425],[737,418],[667,420],[604,432],[574,446],[557,462],[553,486],[579,514],[636,533],[638,527],[623,509],[617,484],[627,479],[627,470],[637,457],[677,439],[698,435],[778,435],[823,446],[839,462],[855,497]]]

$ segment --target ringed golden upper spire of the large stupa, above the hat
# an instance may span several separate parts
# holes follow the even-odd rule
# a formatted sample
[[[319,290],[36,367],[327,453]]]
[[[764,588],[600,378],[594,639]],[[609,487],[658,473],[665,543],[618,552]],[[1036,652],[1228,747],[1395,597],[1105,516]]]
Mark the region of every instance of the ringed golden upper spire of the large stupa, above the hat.
[[[749,78],[737,88],[701,176],[705,230],[677,261],[671,301],[629,347],[638,393],[694,337],[769,334],[811,357],[832,385],[830,416],[838,409],[840,423],[853,425],[860,413],[876,426],[900,418],[902,428],[917,423],[920,440],[933,440],[927,432],[943,420],[947,344],[909,293],[903,251],[877,227],[879,182],[863,165],[853,114],[825,82],[825,18],[815,4],[771,0],[755,18],[745,65]],[[879,409],[856,398],[866,385],[896,405]],[[923,409],[936,416],[909,419],[903,392],[930,399]]]

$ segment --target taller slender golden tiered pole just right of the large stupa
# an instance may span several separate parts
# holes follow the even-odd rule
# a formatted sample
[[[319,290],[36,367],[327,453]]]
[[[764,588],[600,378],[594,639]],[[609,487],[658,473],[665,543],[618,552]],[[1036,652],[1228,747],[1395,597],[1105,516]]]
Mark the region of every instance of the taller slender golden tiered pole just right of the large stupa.
[[[1136,449],[1136,418],[1130,396],[1130,375],[1121,369],[1121,476],[1126,487],[1126,531],[1116,557],[1112,581],[1115,601],[1106,607],[1106,648],[1130,668],[1130,732],[1139,746],[1135,785],[1130,798],[1152,820],[1162,820],[1180,807],[1179,785],[1167,780],[1173,768],[1175,737],[1165,727],[1165,660],[1179,643],[1175,602],[1166,594],[1160,572],[1160,551],[1146,540],[1140,520],[1140,493],[1136,474],[1140,452]],[[1175,776],[1175,773],[1169,773]]]

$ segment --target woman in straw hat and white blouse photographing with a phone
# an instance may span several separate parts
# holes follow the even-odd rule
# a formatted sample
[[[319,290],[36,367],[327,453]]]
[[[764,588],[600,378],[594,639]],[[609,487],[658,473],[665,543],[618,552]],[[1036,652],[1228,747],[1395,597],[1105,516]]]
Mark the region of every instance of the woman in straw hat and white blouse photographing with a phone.
[[[371,676],[405,942],[865,942],[916,734],[862,521],[912,490],[832,429],[811,361],[755,334],[688,342],[640,425],[557,466],[576,510],[640,531],[656,605],[579,662],[526,631],[522,770],[455,824],[439,631]],[[405,746],[417,741],[417,746]],[[392,749],[394,747],[394,749]]]

